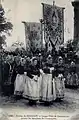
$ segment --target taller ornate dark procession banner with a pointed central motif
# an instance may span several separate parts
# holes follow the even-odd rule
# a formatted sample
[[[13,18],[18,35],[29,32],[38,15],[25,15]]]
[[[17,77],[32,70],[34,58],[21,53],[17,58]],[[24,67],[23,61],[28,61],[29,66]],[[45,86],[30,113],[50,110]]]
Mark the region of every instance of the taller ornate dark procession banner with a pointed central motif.
[[[42,5],[45,42],[48,42],[50,37],[58,49],[64,42],[64,8],[44,3]]]

